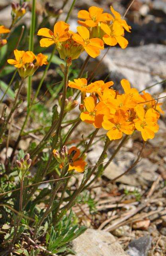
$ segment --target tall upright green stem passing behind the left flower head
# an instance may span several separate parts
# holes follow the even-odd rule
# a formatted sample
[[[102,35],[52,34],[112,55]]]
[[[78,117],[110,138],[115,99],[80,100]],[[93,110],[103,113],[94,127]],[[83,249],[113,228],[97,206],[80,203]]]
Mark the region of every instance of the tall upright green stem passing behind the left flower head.
[[[31,11],[31,27],[29,32],[29,51],[33,51],[33,39],[35,34],[35,0],[32,0],[32,11]],[[27,88],[27,112],[31,102],[31,76],[28,77],[28,88]]]

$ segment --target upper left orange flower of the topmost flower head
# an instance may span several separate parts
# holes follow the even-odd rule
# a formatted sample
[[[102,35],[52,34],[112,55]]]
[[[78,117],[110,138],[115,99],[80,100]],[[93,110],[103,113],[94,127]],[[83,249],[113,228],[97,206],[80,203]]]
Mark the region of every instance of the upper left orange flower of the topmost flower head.
[[[89,8],[89,12],[86,10],[80,10],[78,12],[78,18],[85,20],[78,20],[78,23],[87,27],[95,27],[99,22],[113,20],[111,14],[103,13],[103,9],[96,6],[91,6]]]

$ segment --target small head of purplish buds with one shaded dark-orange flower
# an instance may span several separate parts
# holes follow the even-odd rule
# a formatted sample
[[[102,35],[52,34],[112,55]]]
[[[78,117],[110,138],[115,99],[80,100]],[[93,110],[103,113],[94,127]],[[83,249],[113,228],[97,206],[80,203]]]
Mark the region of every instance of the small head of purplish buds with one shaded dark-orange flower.
[[[69,150],[67,150],[66,146],[63,146],[60,153],[54,149],[53,156],[60,163],[60,168],[68,165],[68,171],[83,172],[87,164],[84,161],[84,156],[80,157],[80,150],[74,146]]]

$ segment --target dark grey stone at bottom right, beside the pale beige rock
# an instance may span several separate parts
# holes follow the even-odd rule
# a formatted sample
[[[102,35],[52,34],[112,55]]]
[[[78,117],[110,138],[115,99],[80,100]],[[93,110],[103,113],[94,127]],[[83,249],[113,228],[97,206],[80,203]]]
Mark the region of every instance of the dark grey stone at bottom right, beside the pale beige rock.
[[[151,242],[152,238],[150,236],[134,239],[129,243],[127,253],[130,256],[147,256],[148,250],[151,247]]]

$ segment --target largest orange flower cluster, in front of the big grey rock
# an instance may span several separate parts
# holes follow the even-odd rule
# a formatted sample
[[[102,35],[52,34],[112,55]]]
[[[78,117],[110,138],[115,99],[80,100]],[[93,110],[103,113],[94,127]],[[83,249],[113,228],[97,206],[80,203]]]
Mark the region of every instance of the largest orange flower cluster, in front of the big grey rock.
[[[159,129],[157,121],[159,112],[162,112],[161,103],[156,103],[147,92],[139,94],[126,79],[121,80],[123,94],[110,88],[112,85],[112,81],[104,83],[102,80],[88,84],[85,78],[68,83],[69,87],[82,92],[84,106],[80,106],[81,120],[108,130],[110,140],[120,139],[123,134],[129,135],[135,130],[141,132],[145,141],[154,138]]]

